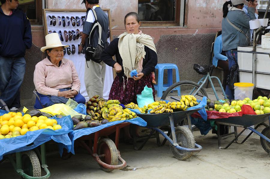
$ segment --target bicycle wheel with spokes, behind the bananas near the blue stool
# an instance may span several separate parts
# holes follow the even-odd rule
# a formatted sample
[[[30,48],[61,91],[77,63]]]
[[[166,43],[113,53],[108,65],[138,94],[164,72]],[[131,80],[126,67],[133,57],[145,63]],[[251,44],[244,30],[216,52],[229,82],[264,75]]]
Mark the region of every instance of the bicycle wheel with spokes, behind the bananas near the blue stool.
[[[161,99],[168,101],[180,101],[181,95],[193,95],[197,100],[201,100],[203,96],[208,97],[203,88],[195,94],[199,87],[200,85],[193,81],[179,81],[170,86],[163,93]]]

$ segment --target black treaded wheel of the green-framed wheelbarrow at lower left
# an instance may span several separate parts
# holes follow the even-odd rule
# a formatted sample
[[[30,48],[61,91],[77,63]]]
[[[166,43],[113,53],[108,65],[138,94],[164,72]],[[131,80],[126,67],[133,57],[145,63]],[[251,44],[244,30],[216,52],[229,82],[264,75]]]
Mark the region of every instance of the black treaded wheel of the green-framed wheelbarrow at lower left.
[[[22,169],[26,175],[41,177],[40,163],[34,151],[29,150],[22,153]]]

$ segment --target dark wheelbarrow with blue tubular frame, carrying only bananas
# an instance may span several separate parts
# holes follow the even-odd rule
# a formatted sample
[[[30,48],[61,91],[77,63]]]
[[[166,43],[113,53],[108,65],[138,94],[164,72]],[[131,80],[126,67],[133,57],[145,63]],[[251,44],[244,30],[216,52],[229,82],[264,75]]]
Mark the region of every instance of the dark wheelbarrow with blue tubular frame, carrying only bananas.
[[[148,137],[143,141],[139,148],[135,148],[135,150],[141,150],[149,138],[152,136],[154,131],[160,133],[165,137],[164,141],[161,145],[164,145],[168,140],[170,142],[170,149],[173,152],[173,155],[178,160],[187,160],[193,154],[193,152],[199,152],[202,150],[202,146],[195,143],[194,136],[191,132],[191,121],[190,115],[197,112],[199,109],[186,110],[186,111],[178,111],[173,113],[161,113],[161,114],[137,114],[137,116],[141,117],[143,120],[147,122],[146,128],[152,129],[151,133]],[[187,117],[189,128],[184,126],[177,126],[180,122],[182,122]],[[170,130],[167,134],[164,133],[160,128],[161,126],[170,125]],[[136,139],[134,139],[135,141]],[[159,142],[159,136],[157,135],[157,141]]]

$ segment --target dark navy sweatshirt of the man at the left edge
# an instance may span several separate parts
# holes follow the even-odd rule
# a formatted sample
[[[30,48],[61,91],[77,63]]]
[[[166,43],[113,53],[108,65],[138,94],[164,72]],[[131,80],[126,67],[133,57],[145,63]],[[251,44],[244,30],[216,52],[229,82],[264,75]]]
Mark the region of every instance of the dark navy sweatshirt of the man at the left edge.
[[[0,6],[0,32],[1,57],[23,57],[32,46],[30,22],[21,10],[7,16]]]

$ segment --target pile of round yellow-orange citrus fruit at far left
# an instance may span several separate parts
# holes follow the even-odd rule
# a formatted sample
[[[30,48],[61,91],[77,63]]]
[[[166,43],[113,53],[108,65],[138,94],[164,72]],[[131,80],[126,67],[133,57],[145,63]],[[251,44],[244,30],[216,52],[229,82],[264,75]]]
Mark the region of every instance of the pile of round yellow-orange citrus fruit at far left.
[[[46,116],[33,116],[22,113],[9,112],[0,116],[0,139],[25,135],[28,131],[39,129],[61,129],[55,119],[48,119]]]

